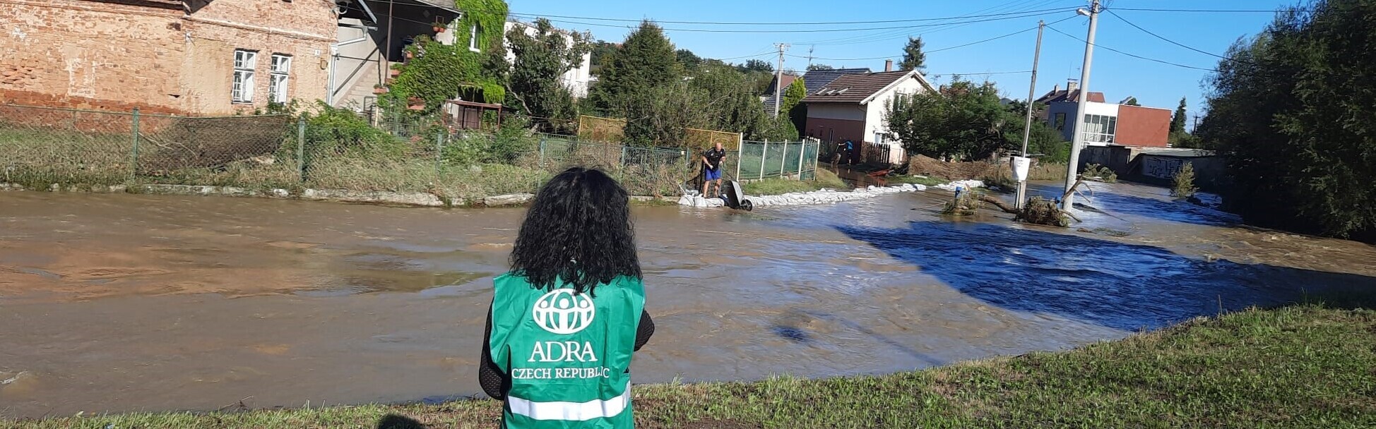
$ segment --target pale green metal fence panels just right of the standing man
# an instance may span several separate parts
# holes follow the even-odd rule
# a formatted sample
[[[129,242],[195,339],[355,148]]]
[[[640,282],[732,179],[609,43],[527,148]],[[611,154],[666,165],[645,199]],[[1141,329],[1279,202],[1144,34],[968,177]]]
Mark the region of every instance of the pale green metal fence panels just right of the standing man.
[[[739,164],[735,172],[738,180],[761,180],[768,177],[793,177],[813,180],[817,175],[817,154],[821,142],[742,142],[738,151]],[[729,168],[729,165],[728,165]]]

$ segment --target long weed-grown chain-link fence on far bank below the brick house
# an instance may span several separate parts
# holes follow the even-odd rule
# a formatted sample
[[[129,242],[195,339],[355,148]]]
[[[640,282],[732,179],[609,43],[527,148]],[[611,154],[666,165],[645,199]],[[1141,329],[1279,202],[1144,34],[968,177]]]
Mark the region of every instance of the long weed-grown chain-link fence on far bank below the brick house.
[[[637,195],[691,180],[687,150],[623,147],[574,136],[453,131],[356,116],[179,117],[0,104],[0,182],[198,184],[248,188],[528,192],[570,165],[600,166]]]

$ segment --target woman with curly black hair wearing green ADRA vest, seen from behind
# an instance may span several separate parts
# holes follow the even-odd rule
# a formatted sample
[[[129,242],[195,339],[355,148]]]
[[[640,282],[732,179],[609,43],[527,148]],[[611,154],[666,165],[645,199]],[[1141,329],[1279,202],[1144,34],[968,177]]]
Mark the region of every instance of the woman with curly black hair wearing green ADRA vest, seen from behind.
[[[526,213],[493,280],[479,381],[502,428],[632,428],[630,358],[654,334],[629,195],[570,168]]]

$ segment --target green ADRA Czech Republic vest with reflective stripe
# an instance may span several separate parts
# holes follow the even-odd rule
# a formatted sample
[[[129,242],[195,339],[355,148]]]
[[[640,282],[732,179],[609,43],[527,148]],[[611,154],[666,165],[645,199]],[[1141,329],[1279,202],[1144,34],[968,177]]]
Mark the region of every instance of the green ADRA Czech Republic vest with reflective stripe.
[[[504,428],[633,428],[630,355],[645,307],[634,278],[599,285],[596,297],[524,276],[493,280],[493,362],[510,378]]]

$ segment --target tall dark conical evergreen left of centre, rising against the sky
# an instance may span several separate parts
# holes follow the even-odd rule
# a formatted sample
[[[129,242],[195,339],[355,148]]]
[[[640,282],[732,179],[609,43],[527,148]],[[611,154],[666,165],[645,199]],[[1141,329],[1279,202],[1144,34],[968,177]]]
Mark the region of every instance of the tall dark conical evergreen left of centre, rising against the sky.
[[[652,116],[655,96],[663,95],[659,88],[681,81],[682,76],[678,55],[665,30],[651,21],[641,22],[604,63],[589,94],[592,106],[603,114],[626,118],[629,143],[662,143],[666,128],[656,124]]]

